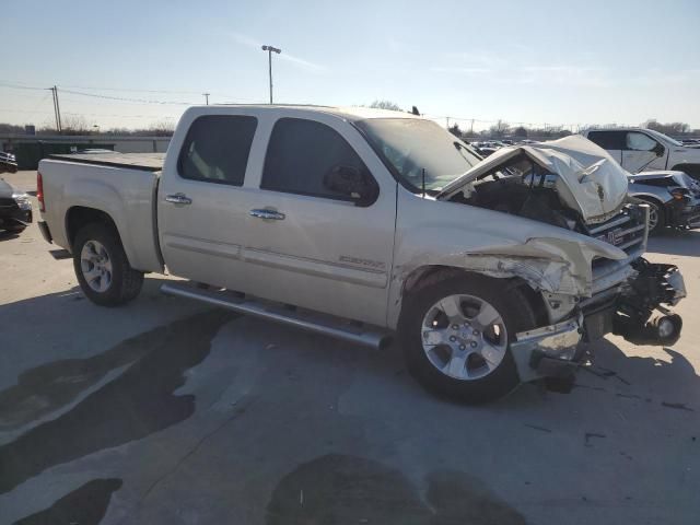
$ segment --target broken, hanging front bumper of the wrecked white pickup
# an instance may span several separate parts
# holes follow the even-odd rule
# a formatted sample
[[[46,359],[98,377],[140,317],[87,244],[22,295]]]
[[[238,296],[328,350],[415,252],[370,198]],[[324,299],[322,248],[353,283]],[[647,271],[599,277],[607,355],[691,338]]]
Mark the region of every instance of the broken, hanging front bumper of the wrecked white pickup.
[[[593,304],[582,302],[568,319],[515,335],[511,351],[522,382],[561,377],[583,365],[591,342],[606,334],[622,336],[634,345],[673,345],[680,337],[682,322],[667,306],[686,296],[678,268],[633,262],[635,275],[626,283],[602,294]]]

